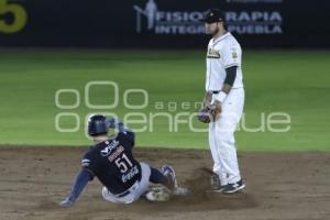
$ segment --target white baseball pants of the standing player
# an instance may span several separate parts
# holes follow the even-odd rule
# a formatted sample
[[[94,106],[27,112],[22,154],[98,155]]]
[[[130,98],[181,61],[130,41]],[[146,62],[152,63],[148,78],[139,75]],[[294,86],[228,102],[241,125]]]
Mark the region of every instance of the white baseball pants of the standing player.
[[[213,172],[219,175],[222,186],[241,179],[234,131],[242,118],[244,97],[244,88],[231,89],[222,103],[220,118],[209,124]]]

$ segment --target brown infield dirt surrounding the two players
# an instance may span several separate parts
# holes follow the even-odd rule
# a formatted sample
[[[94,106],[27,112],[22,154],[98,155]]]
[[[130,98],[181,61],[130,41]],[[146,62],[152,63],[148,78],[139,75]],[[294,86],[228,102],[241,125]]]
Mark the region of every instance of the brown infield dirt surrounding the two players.
[[[86,147],[0,147],[1,220],[327,220],[330,219],[330,153],[240,153],[246,193],[207,193],[208,151],[136,148],[155,167],[173,165],[179,185],[194,191],[166,202],[144,199],[113,205],[97,179],[77,204],[58,207],[69,193]]]

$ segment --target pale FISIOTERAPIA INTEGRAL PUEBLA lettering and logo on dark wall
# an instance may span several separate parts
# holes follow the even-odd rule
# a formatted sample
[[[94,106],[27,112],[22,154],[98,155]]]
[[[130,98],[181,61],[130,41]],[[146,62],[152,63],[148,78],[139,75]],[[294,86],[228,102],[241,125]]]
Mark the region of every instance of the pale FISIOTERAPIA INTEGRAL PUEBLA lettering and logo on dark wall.
[[[155,1],[145,8],[133,7],[136,12],[136,32],[154,34],[204,34],[200,19],[205,11],[161,11]],[[282,34],[279,11],[227,11],[228,30],[238,34]]]

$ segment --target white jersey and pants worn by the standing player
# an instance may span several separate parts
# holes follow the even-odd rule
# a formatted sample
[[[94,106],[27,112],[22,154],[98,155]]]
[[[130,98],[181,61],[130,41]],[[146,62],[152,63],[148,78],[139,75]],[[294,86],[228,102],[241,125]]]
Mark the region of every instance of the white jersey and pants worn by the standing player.
[[[234,131],[244,107],[241,61],[241,46],[231,33],[228,32],[209,42],[206,61],[206,91],[220,91],[226,79],[226,68],[238,66],[234,84],[221,103],[220,118],[209,124],[213,172],[219,175],[222,186],[241,179],[234,139]]]

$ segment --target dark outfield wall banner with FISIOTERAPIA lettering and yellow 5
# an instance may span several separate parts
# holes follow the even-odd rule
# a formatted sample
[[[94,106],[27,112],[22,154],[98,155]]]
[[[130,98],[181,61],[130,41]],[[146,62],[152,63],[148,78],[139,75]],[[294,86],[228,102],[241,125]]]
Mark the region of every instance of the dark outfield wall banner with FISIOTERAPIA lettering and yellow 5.
[[[245,47],[330,46],[326,0],[0,0],[0,45],[200,48],[210,8]]]

